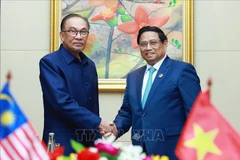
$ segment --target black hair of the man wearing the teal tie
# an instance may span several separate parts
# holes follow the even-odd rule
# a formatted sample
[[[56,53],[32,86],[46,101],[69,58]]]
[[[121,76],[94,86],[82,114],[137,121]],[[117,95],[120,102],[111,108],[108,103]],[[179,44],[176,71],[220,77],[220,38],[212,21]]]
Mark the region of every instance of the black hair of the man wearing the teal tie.
[[[138,31],[138,36],[137,36],[137,44],[139,44],[140,42],[140,37],[144,32],[147,31],[153,31],[153,32],[157,32],[158,33],[158,38],[160,39],[160,41],[163,43],[165,40],[167,40],[167,36],[165,35],[165,33],[158,27],[156,26],[145,26],[143,28],[141,28]]]

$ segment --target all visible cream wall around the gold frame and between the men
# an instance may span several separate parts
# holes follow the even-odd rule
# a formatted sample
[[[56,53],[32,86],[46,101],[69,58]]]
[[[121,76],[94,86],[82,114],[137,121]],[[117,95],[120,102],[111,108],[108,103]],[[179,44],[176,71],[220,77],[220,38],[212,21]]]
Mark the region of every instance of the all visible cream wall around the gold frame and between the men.
[[[206,88],[213,80],[212,102],[240,131],[239,1],[196,0],[194,7],[195,67]],[[1,87],[8,70],[11,91],[38,135],[42,135],[43,108],[38,62],[49,53],[50,1],[1,1]],[[123,93],[101,93],[100,113],[106,120],[116,115]],[[121,139],[129,142],[129,135]]]

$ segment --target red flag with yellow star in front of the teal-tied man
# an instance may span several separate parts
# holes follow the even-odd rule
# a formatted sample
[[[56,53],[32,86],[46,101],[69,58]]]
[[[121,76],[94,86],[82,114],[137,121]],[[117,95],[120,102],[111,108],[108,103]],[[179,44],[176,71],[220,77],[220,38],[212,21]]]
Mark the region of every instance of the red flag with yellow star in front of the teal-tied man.
[[[240,135],[200,92],[179,138],[179,160],[240,160]]]

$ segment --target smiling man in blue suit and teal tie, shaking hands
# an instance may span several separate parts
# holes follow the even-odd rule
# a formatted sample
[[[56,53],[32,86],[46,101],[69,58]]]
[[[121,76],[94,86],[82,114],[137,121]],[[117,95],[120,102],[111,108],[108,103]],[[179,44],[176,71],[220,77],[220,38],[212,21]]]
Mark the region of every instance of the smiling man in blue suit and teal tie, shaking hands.
[[[161,29],[143,27],[137,43],[147,65],[127,75],[113,133],[120,137],[132,127],[133,145],[141,145],[148,155],[174,160],[180,133],[201,90],[200,80],[191,64],[166,55],[168,40]]]

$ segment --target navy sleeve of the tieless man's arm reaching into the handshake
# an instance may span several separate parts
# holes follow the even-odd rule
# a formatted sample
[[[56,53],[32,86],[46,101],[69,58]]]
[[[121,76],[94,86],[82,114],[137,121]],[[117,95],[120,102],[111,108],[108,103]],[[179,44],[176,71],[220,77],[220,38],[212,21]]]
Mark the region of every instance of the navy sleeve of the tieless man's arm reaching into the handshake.
[[[70,97],[61,71],[57,66],[44,58],[40,60],[39,65],[40,82],[47,107],[53,107],[56,112],[63,116],[62,118],[70,120],[79,127],[97,129],[101,118],[85,107],[79,106]]]

